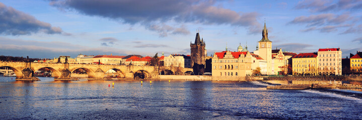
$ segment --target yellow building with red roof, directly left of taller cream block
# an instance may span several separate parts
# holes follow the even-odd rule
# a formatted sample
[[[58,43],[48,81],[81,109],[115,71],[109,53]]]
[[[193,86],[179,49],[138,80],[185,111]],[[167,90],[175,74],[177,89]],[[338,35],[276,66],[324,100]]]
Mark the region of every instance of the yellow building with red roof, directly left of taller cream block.
[[[300,53],[292,57],[293,61],[293,74],[309,74],[317,75],[318,66],[317,66],[317,53]]]

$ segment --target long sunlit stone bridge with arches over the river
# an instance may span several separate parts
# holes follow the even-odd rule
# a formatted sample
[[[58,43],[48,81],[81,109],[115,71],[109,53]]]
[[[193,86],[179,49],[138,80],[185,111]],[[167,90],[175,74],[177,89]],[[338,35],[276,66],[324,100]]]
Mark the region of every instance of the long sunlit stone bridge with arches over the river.
[[[10,67],[16,73],[16,80],[32,80],[34,71],[48,68],[54,75],[54,80],[70,80],[70,74],[82,68],[88,74],[88,79],[104,79],[106,71],[113,69],[120,78],[133,79],[142,74],[143,78],[158,79],[159,74],[188,73],[192,68],[169,66],[135,66],[135,65],[107,65],[107,64],[74,64],[74,63],[42,63],[42,62],[8,62],[0,61],[0,67]]]

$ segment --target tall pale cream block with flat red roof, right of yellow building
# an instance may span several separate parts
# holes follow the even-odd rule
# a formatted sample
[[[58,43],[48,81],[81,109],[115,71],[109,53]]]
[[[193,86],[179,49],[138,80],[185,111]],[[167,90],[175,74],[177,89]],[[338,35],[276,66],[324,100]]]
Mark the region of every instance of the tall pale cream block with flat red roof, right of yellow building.
[[[340,48],[318,49],[319,74],[342,74],[342,51]]]

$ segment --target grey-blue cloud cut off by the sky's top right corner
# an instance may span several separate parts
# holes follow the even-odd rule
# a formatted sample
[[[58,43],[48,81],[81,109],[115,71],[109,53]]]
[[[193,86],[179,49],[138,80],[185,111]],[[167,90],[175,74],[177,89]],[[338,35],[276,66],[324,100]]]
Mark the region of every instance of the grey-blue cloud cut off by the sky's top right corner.
[[[309,9],[311,12],[327,12],[340,10],[358,10],[362,8],[361,0],[302,0],[295,6],[296,9]]]

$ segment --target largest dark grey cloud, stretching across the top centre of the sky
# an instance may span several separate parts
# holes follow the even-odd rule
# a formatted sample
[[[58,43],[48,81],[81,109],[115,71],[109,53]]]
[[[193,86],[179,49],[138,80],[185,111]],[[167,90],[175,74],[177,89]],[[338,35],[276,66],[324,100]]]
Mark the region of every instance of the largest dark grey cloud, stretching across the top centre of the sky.
[[[249,33],[260,32],[257,12],[237,12],[213,6],[215,0],[51,0],[59,9],[76,10],[90,16],[110,18],[121,23],[140,23],[160,36],[188,34],[186,27],[173,27],[178,23],[229,24],[247,27]]]

